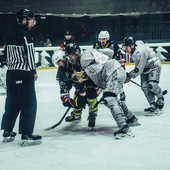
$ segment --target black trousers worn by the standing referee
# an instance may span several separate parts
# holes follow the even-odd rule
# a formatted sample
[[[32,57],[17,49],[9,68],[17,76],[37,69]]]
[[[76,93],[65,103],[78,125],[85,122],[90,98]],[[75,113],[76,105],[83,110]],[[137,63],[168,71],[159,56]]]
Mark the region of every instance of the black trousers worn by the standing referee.
[[[19,115],[19,134],[32,134],[37,100],[34,77],[30,71],[7,71],[7,97],[1,129],[12,131]]]

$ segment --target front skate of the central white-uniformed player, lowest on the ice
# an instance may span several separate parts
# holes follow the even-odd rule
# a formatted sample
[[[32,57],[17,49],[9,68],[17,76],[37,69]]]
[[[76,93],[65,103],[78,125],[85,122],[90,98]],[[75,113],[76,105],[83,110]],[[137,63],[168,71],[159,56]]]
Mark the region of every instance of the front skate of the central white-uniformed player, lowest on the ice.
[[[125,137],[135,137],[128,125],[122,126],[118,131],[114,132],[115,139],[121,139]]]

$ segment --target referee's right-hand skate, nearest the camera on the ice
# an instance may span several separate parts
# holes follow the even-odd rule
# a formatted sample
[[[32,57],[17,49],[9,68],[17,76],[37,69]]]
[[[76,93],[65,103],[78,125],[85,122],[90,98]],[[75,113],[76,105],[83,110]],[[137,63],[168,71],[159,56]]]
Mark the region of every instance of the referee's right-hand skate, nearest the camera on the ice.
[[[21,136],[21,146],[32,146],[40,145],[42,137],[39,135],[22,135]]]

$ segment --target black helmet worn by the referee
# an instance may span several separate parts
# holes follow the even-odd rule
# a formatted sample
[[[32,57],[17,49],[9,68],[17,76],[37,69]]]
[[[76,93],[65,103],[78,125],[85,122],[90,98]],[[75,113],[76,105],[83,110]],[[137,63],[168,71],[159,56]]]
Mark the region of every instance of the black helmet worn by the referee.
[[[34,18],[34,13],[29,9],[21,9],[16,14],[16,20],[18,23],[22,23],[23,18],[28,21],[30,18]]]

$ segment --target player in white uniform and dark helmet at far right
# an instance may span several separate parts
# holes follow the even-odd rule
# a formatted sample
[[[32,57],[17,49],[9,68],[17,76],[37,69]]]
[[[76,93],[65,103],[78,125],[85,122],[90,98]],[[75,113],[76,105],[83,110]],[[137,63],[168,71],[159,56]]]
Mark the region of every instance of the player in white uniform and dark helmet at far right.
[[[126,37],[123,45],[135,62],[135,68],[127,73],[126,82],[140,75],[141,88],[151,106],[144,111],[146,114],[159,114],[160,109],[164,107],[164,98],[158,85],[161,73],[161,62],[158,56],[143,41],[135,41],[133,37]]]

